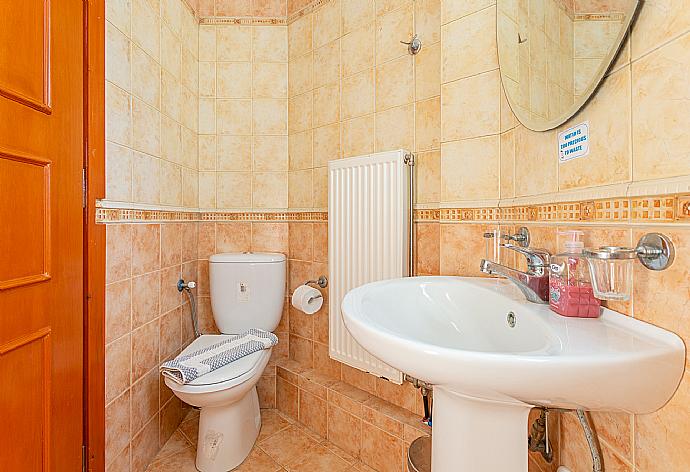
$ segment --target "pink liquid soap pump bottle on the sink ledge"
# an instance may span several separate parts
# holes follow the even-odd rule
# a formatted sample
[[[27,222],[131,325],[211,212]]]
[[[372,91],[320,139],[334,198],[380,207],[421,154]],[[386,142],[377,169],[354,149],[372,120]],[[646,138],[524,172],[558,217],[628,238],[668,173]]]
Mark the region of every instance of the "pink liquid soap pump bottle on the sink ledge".
[[[563,231],[565,252],[551,257],[549,305],[559,315],[597,318],[601,302],[594,297],[587,258],[583,255],[582,231]]]

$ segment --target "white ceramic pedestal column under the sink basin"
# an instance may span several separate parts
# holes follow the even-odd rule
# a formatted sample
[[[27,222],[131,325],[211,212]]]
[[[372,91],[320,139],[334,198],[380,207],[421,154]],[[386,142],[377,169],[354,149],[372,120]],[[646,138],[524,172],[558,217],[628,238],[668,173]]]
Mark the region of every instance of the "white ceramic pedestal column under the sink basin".
[[[530,410],[435,386],[432,472],[527,472]]]

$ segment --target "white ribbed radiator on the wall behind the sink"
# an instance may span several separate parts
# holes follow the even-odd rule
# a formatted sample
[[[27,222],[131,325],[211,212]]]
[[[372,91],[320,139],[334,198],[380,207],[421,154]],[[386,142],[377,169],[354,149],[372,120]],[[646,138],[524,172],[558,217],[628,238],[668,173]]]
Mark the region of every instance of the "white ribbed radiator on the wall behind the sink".
[[[410,275],[410,176],[405,151],[329,162],[328,266],[330,356],[402,383],[402,373],[350,335],[340,305],[360,285]]]

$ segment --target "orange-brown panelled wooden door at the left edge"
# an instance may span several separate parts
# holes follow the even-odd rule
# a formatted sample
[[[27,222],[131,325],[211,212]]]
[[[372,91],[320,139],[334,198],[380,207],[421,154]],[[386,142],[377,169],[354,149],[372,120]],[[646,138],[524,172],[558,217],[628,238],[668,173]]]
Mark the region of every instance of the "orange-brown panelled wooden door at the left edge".
[[[81,470],[82,15],[0,0],[0,471]]]

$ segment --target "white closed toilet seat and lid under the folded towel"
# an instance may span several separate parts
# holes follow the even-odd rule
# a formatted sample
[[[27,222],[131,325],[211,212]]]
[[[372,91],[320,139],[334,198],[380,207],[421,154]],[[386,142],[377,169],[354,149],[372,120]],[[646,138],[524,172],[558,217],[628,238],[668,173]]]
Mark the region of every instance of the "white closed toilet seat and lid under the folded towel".
[[[232,335],[206,334],[192,341],[181,353],[180,356],[191,354],[205,347],[221,342],[230,338]],[[263,372],[266,360],[271,356],[271,349],[257,351],[248,356],[237,359],[230,364],[216,369],[208,374],[197,377],[188,384],[180,385],[173,380],[166,378],[166,385],[175,392],[181,393],[212,393],[220,390],[232,388],[251,379],[254,375]]]

